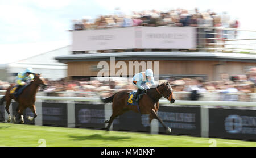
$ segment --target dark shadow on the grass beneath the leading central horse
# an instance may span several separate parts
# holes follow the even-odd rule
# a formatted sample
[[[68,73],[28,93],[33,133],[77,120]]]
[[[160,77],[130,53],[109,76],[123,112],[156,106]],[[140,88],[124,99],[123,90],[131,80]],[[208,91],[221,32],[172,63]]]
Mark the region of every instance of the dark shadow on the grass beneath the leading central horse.
[[[72,140],[123,140],[130,139],[129,136],[102,136],[100,134],[93,134],[89,136],[73,136],[69,135]]]

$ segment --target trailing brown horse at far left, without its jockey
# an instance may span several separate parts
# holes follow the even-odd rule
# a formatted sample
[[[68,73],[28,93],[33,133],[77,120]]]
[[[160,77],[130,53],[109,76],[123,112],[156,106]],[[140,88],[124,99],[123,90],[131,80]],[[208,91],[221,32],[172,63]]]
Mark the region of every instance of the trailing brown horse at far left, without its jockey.
[[[29,107],[32,112],[34,113],[34,117],[28,117],[29,120],[33,120],[36,118],[36,108],[35,108],[35,100],[36,100],[36,92],[38,91],[39,86],[43,86],[43,88],[46,87],[46,81],[44,81],[44,78],[40,76],[40,74],[34,74],[34,81],[31,81],[30,84],[24,88],[23,92],[18,96],[18,98],[14,97],[13,94],[10,94],[10,90],[13,89],[15,84],[11,84],[9,88],[6,90],[5,96],[0,100],[0,105],[3,104],[3,102],[6,101],[5,110],[8,113],[8,120],[7,122],[11,121],[11,115],[9,111],[9,106],[11,103],[11,100],[14,99],[16,102],[18,102],[18,107],[16,111],[18,112],[18,120],[20,119],[20,123],[24,123],[23,119],[23,110],[27,109]],[[16,117],[13,117],[14,123],[16,122]]]

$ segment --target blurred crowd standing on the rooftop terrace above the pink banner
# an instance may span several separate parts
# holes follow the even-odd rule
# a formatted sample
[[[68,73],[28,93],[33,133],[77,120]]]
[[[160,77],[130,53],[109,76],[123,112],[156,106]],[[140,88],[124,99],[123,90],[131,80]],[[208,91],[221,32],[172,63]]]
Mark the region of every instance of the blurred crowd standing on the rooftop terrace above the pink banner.
[[[102,28],[118,28],[132,26],[214,26],[238,28],[237,19],[231,20],[225,12],[218,15],[207,10],[176,9],[169,11],[133,11],[132,15],[101,15],[94,21],[89,16],[82,20],[73,20],[74,30],[91,30]]]

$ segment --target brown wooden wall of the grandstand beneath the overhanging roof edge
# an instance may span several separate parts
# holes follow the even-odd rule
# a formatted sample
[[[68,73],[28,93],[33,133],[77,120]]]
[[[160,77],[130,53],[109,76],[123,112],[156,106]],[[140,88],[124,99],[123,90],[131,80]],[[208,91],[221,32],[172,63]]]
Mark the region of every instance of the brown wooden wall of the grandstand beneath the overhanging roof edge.
[[[145,60],[146,61],[146,60]],[[97,76],[98,70],[93,71],[92,65],[97,66],[99,61],[80,61],[68,63],[68,76]],[[110,74],[110,61],[106,61],[109,64]],[[117,63],[118,61],[115,61]],[[141,61],[139,61],[141,62]],[[125,61],[127,65],[127,73],[129,73],[129,61]],[[147,61],[146,61],[147,63]],[[210,81],[214,80],[214,76],[218,73],[228,73],[231,75],[244,74],[245,66],[256,66],[256,63],[245,62],[225,62],[221,63],[216,69],[216,64],[220,64],[218,61],[159,61],[159,74],[203,74],[207,75]],[[154,70],[154,61],[152,61],[152,69]],[[119,69],[115,69],[117,72]],[[140,71],[142,69],[140,68]],[[135,68],[133,70],[135,72]],[[134,73],[133,73],[134,74]]]

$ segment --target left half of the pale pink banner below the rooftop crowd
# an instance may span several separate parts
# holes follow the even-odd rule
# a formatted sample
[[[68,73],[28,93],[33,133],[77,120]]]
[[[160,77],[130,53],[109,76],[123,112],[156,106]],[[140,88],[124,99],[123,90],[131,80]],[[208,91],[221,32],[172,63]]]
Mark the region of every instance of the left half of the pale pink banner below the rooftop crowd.
[[[73,31],[73,51],[135,48],[134,27]]]

